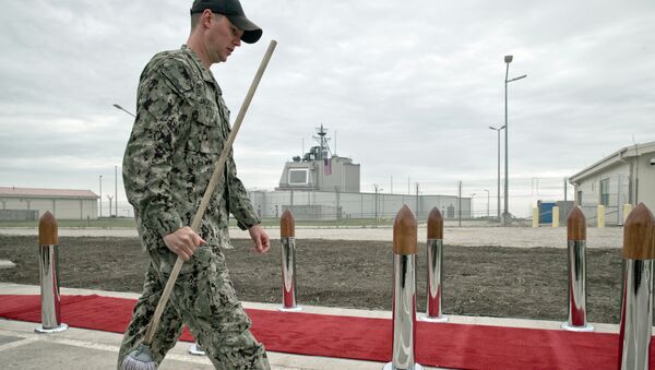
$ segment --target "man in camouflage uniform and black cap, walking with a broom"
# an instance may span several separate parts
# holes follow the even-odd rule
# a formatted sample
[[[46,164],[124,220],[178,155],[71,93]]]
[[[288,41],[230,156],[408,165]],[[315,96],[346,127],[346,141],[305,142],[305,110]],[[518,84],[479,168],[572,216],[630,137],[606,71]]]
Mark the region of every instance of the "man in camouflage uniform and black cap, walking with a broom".
[[[155,331],[153,359],[164,359],[187,324],[217,369],[269,369],[221,252],[229,244],[229,213],[249,230],[257,252],[270,249],[231,152],[199,232],[188,226],[230,132],[229,110],[210,65],[226,61],[241,40],[255,43],[261,34],[238,0],[195,0],[187,44],[157,53],[141,74],[123,181],[150,265],[123,336],[119,368],[143,341],[179,255],[186,262]]]

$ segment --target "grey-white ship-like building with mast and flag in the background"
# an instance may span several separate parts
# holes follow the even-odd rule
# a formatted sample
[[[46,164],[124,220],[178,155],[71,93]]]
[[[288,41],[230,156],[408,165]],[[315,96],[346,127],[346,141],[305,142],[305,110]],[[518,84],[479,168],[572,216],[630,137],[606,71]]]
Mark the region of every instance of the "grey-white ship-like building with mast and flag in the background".
[[[330,154],[331,139],[322,124],[317,134],[319,145],[285,164],[275,191],[250,191],[260,217],[279,217],[291,210],[296,219],[393,219],[403,204],[419,220],[427,218],[432,207],[439,208],[444,218],[472,217],[471,198],[360,192],[360,165]]]

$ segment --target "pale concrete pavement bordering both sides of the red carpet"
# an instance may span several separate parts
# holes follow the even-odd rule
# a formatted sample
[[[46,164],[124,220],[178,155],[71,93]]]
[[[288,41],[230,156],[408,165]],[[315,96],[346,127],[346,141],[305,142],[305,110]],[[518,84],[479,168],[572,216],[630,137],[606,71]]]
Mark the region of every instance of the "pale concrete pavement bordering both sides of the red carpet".
[[[38,295],[38,286],[0,283],[0,295]],[[135,294],[87,289],[61,289],[62,295],[100,295],[136,298]],[[277,305],[243,302],[246,308],[276,310]],[[303,307],[303,312],[391,319],[389,311],[369,311],[325,307]],[[502,325],[560,330],[560,322],[449,315],[451,323]],[[36,323],[0,319],[0,363],[2,369],[116,369],[122,335],[71,327],[58,334],[37,334]],[[438,324],[436,324],[438,325]],[[618,333],[618,325],[594,323],[597,332]],[[160,369],[213,369],[205,357],[187,353],[190,343],[179,342],[167,355]],[[380,370],[383,362],[269,353],[272,369],[352,369]],[[437,369],[426,367],[426,369]]]

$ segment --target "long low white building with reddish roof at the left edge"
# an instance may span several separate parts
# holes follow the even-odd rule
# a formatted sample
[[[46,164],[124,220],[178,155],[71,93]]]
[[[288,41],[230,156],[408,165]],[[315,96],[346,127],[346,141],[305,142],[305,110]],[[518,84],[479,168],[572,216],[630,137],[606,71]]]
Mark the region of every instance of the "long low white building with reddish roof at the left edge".
[[[0,187],[0,220],[34,220],[50,211],[57,219],[96,219],[98,195],[91,190]]]

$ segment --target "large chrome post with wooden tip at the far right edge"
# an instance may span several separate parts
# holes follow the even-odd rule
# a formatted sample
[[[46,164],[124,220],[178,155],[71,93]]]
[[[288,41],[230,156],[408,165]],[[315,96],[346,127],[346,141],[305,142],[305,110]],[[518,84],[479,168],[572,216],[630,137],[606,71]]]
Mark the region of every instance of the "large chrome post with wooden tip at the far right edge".
[[[619,369],[648,369],[653,331],[655,219],[640,203],[623,226],[623,297]]]

